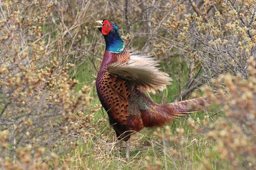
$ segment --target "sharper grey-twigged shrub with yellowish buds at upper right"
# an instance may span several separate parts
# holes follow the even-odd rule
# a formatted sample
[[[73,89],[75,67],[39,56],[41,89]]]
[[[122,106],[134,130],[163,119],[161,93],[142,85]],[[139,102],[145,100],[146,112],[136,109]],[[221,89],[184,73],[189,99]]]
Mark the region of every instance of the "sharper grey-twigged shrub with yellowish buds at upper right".
[[[209,80],[218,78],[220,74],[240,74],[247,79],[248,59],[253,57],[256,60],[256,23],[252,1],[200,2],[184,2],[181,5],[183,10],[176,8],[169,20],[163,23],[176,37],[172,44],[189,65],[190,77],[180,97],[200,85],[211,85]],[[185,10],[190,4],[192,13]]]

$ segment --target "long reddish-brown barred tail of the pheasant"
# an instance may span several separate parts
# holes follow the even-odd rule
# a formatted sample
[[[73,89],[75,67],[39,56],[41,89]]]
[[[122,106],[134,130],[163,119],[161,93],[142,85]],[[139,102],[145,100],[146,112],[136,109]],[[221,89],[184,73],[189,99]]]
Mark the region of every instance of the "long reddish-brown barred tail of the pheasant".
[[[215,96],[218,97],[218,94],[215,94]],[[142,111],[143,125],[145,127],[162,126],[183,114],[201,111],[209,104],[210,99],[199,97],[181,102],[152,105],[151,108]]]

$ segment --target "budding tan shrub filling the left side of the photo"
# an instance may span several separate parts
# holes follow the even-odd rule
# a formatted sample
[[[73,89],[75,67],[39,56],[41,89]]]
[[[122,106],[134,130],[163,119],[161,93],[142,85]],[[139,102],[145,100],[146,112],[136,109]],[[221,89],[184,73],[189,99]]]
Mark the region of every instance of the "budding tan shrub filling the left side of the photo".
[[[9,1],[1,7],[0,166],[6,169],[66,166],[58,157],[75,144],[70,134],[88,124],[78,120],[86,120],[90,88],[76,93],[78,81],[67,74],[74,65],[47,47],[52,37],[41,23],[56,4]],[[69,164],[69,156],[62,162]]]

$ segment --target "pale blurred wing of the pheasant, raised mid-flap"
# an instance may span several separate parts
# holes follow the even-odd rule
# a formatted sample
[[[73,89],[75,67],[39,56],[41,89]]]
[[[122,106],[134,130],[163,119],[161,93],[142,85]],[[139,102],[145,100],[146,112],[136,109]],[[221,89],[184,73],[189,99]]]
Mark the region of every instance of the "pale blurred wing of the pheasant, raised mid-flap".
[[[158,61],[150,56],[131,55],[127,62],[115,62],[108,66],[108,72],[116,77],[134,81],[139,87],[148,92],[163,90],[170,85],[172,79],[160,71]]]

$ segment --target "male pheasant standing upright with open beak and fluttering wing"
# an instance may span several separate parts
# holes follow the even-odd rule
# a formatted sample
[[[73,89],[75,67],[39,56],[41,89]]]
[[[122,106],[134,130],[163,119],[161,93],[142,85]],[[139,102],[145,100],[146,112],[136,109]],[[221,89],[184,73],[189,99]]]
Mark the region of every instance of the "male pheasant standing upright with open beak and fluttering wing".
[[[165,125],[180,114],[202,108],[207,99],[190,99],[182,102],[159,105],[144,92],[163,90],[172,79],[160,71],[154,58],[130,55],[118,34],[118,27],[109,20],[96,21],[96,26],[106,42],[102,65],[96,88],[99,100],[108,113],[109,122],[116,131],[117,139],[126,142],[126,157],[129,158],[131,134],[143,127]],[[191,107],[191,105],[197,106]]]

